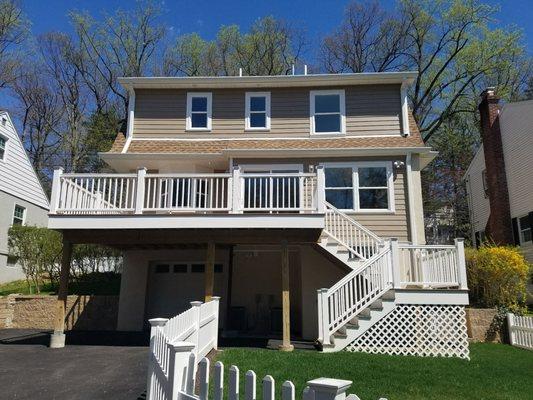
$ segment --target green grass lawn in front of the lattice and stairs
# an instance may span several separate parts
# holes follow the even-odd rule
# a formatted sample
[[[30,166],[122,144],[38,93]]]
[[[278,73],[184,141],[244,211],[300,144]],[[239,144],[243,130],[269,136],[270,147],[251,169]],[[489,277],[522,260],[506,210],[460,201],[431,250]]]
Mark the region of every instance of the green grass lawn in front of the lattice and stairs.
[[[415,399],[533,399],[533,351],[508,345],[476,343],[470,346],[470,361],[456,358],[422,358],[340,352],[323,354],[296,350],[226,348],[217,356],[225,365],[244,373],[252,369],[258,380],[272,375],[279,391],[281,383],[291,380],[296,398],[308,380],[329,377],[348,379],[348,393],[362,400]],[[227,382],[227,378],[226,378]],[[258,398],[260,398],[258,381]],[[280,398],[276,396],[276,398]]]

